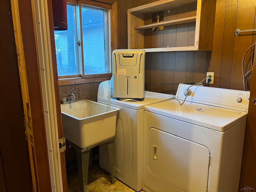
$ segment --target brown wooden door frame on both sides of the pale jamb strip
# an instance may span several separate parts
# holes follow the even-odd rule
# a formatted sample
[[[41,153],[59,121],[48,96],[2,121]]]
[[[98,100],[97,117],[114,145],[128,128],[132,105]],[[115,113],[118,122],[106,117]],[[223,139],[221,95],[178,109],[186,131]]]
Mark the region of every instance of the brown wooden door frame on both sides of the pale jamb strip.
[[[50,180],[42,84],[38,59],[38,44],[35,30],[35,10],[33,3],[33,0],[11,1],[14,32],[16,34],[14,42],[16,42],[16,48],[18,53],[16,55],[16,60],[18,56],[18,70],[20,71],[20,84],[26,122],[26,136],[28,138],[28,151],[30,156],[33,190],[34,192],[51,192],[52,186]],[[51,42],[50,51],[52,53],[51,60],[54,71],[54,88],[56,91],[55,100],[57,103],[59,103],[60,98],[58,94],[58,75],[54,45],[52,2],[51,0],[47,0],[47,3]],[[62,138],[63,134],[60,105],[57,105],[56,107],[59,130],[58,135],[59,138]],[[60,156],[62,162],[61,167],[63,191],[66,192],[67,184],[64,153],[61,153]]]

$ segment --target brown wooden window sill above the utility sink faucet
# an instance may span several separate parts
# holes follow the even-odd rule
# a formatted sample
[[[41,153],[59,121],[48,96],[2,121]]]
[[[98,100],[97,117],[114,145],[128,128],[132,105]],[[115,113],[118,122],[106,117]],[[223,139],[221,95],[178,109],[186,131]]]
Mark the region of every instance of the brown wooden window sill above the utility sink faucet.
[[[88,78],[59,79],[59,86],[102,82],[105,80],[110,80],[111,76],[112,74],[110,73],[110,74],[104,74],[104,76],[98,76],[98,77],[94,76],[94,77],[88,77]]]

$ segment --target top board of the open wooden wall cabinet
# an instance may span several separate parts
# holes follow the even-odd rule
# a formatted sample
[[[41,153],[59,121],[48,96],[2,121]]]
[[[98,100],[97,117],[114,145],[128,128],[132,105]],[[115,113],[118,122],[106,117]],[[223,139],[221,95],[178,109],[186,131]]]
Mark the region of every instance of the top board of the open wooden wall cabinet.
[[[197,0],[159,0],[156,2],[128,9],[128,12],[132,14],[145,14],[150,12],[157,12],[160,10],[166,10],[168,8],[173,8],[175,6],[184,6],[184,4],[194,2],[197,2]]]

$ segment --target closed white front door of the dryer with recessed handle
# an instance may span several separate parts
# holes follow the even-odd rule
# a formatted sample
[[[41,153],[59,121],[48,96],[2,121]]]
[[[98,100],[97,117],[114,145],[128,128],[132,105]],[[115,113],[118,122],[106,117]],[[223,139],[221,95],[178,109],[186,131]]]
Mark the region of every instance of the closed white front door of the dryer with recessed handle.
[[[206,192],[210,151],[161,130],[149,131],[149,170],[184,192]]]

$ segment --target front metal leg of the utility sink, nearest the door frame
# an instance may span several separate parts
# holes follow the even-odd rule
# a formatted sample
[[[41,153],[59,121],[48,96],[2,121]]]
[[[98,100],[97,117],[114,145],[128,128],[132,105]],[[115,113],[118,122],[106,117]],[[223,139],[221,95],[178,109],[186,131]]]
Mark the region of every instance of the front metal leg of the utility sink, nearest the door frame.
[[[82,184],[83,184],[82,192],[87,192],[87,180],[88,180],[90,151],[91,151],[91,149],[88,149],[88,150],[76,149],[78,172],[79,172],[79,176],[82,180]]]

